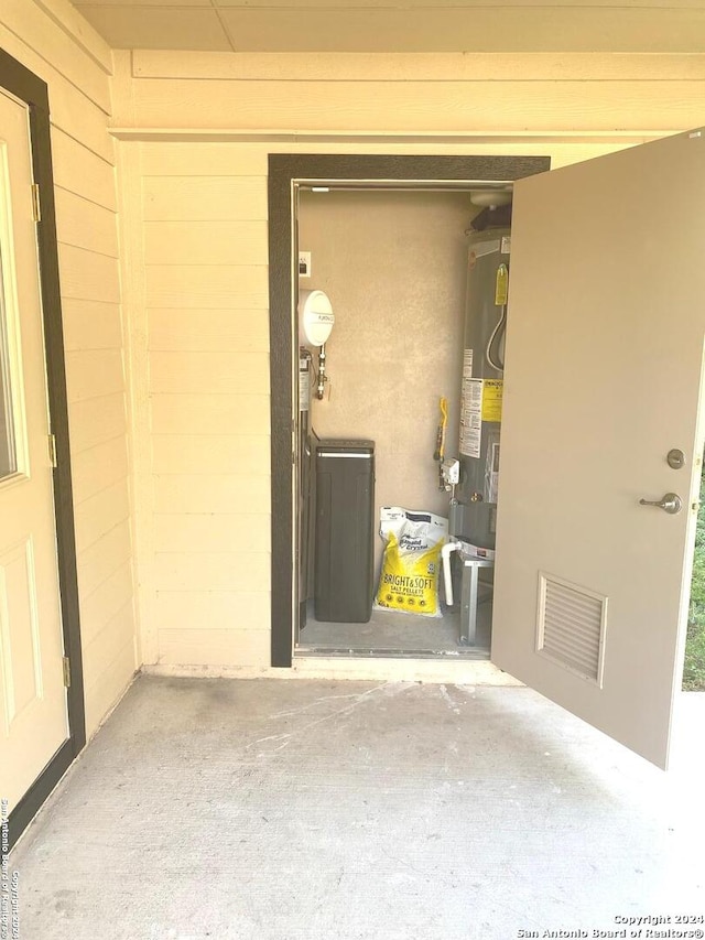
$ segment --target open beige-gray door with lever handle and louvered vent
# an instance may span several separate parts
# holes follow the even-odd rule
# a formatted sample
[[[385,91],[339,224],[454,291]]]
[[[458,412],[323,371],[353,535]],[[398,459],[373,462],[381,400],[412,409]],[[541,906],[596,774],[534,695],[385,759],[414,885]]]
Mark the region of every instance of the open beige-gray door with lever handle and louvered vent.
[[[665,767],[703,451],[705,131],[522,180],[513,206],[492,661]],[[680,511],[640,505],[666,494]]]

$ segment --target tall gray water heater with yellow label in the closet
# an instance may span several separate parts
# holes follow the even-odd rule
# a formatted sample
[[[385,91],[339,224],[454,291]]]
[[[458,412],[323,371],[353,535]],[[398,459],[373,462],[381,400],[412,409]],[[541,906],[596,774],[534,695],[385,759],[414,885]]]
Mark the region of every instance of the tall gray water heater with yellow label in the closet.
[[[506,219],[507,215],[502,214]],[[505,326],[510,229],[474,231],[468,239],[459,484],[451,505],[451,536],[495,548],[502,418]]]

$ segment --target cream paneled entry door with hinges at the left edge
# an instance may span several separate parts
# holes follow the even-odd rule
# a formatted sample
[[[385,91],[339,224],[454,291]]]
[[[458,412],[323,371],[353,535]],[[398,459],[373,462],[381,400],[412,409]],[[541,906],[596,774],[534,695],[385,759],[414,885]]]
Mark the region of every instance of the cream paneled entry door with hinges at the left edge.
[[[26,107],[0,91],[0,795],[68,737]]]

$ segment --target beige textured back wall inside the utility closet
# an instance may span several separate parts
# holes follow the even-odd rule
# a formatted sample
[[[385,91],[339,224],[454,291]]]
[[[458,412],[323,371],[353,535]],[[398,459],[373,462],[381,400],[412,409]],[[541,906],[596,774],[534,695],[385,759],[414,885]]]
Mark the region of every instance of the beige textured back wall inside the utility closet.
[[[376,520],[390,505],[447,517],[433,451],[445,396],[447,454],[457,454],[465,230],[476,212],[465,193],[301,195],[299,246],[312,252],[312,277],[300,289],[325,291],[336,315],[313,428],[376,442]],[[381,539],[375,549],[377,570]]]

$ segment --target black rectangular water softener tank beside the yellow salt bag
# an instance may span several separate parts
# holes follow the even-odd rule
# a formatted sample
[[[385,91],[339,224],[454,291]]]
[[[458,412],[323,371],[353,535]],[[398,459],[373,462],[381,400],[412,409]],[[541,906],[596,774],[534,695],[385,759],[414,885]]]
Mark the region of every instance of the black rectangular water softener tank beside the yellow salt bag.
[[[375,593],[375,442],[316,445],[316,620],[366,624]]]

